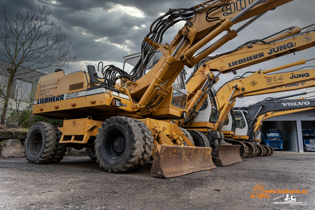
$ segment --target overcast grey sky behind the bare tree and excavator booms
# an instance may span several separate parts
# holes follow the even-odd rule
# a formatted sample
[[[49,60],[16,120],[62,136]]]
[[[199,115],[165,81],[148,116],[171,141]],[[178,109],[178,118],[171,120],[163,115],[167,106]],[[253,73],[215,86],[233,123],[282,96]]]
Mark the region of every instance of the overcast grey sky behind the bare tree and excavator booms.
[[[66,42],[71,41],[75,47],[76,61],[70,63],[72,69],[86,69],[86,66],[91,64],[97,66],[99,61],[122,68],[123,57],[140,51],[143,37],[148,34],[152,22],[161,14],[167,12],[169,8],[189,8],[201,3],[196,0],[0,0],[0,2],[1,5],[5,5],[9,14],[30,6],[37,9],[39,5],[47,5],[54,18],[63,23],[62,31],[66,34]],[[314,8],[315,0],[294,0],[268,11],[214,54],[230,51],[246,41],[260,39],[291,26],[303,28],[311,25],[315,23]],[[233,29],[238,27],[240,24],[233,26]],[[170,43],[179,28],[169,30],[163,41]],[[313,59],[314,52],[315,48],[311,48],[297,52],[295,56],[292,54],[269,60],[239,70],[238,75],[301,59]],[[315,66],[315,60],[303,66]],[[221,75],[216,89],[233,77],[232,74]],[[285,93],[280,93],[282,94]],[[263,98],[265,96],[238,99],[236,106],[248,105]]]

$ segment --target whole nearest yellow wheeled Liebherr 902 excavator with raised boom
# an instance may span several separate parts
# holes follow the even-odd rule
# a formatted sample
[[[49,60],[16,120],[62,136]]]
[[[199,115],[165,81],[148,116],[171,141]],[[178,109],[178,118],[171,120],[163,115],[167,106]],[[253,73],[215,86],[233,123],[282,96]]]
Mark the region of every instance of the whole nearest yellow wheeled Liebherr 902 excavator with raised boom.
[[[56,69],[37,86],[33,114],[63,120],[38,122],[26,141],[30,163],[59,162],[65,148],[94,148],[108,172],[143,167],[154,156],[151,175],[171,178],[214,168],[211,148],[195,147],[189,133],[165,119],[185,119],[187,89],[181,73],[237,36],[233,24],[257,17],[291,0],[209,0],[188,9],[170,9],[151,26],[141,58],[130,73],[99,63],[86,71]],[[241,4],[240,4],[241,3]],[[165,31],[184,21],[170,44]],[[227,35],[195,55],[221,32]],[[154,52],[161,58],[153,65]],[[186,146],[188,145],[188,146]]]

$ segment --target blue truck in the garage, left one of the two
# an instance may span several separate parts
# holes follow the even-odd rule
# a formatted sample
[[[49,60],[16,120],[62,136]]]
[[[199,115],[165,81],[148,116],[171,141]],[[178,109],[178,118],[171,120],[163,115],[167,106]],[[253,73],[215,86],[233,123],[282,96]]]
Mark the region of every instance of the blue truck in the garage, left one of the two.
[[[263,132],[261,143],[272,147],[274,150],[283,150],[284,134],[279,129],[269,129]]]

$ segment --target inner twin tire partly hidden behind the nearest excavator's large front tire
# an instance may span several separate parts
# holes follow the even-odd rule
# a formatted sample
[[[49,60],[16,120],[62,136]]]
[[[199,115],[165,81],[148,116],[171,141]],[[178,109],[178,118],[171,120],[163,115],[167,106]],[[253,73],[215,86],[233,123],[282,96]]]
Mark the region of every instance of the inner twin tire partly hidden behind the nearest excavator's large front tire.
[[[145,166],[152,156],[153,153],[153,136],[151,130],[149,130],[149,127],[144,124],[144,122],[141,122],[140,120],[134,120],[138,126],[141,128],[141,133],[143,134],[143,149],[144,151],[141,154],[141,159],[138,161],[138,164],[134,166],[134,170],[139,170],[143,166]]]

